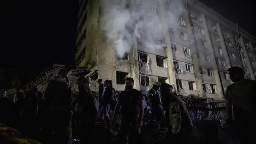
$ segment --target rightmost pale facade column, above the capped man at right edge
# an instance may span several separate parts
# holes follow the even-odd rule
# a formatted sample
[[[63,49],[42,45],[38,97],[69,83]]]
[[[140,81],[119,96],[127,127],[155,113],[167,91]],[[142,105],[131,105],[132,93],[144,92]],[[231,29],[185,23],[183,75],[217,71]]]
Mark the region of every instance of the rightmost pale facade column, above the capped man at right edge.
[[[244,53],[242,54],[243,55],[243,57],[245,58],[245,62],[246,62],[246,64],[245,64],[245,66],[246,66],[246,68],[248,68],[248,70],[249,70],[249,72],[250,72],[250,78],[252,79],[252,80],[254,80],[255,78],[254,78],[254,76],[253,76],[253,70],[252,70],[252,66],[251,66],[251,63],[250,63],[250,59],[249,59],[249,56],[248,56],[248,54],[247,54],[247,50],[246,50],[246,48],[245,48],[245,45],[244,45],[244,40],[243,40],[243,37],[242,36],[240,36],[240,38],[239,38],[239,41],[240,41],[240,46],[242,47],[242,50],[244,51]],[[244,70],[245,71],[245,70]],[[246,72],[245,72],[245,74],[246,74]],[[246,77],[248,76],[248,74],[246,74]]]

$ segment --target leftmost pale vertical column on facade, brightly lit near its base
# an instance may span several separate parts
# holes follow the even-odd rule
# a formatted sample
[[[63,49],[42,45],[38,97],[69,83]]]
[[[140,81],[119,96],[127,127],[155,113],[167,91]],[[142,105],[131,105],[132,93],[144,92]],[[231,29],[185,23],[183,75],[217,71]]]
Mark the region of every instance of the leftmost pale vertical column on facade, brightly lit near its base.
[[[165,41],[165,45],[166,48],[164,48],[165,50],[165,54],[167,57],[167,72],[168,72],[168,76],[169,76],[169,84],[176,86],[176,78],[175,78],[175,71],[173,71],[173,57],[172,57],[172,48],[170,45],[170,35],[169,35],[169,31],[168,31],[168,24],[166,21],[166,11],[165,11],[165,5],[164,5],[164,1],[163,0],[159,0],[159,5],[160,5],[160,18],[162,21],[162,32],[163,32],[163,36],[164,36],[164,41]],[[175,87],[177,88],[177,86]]]

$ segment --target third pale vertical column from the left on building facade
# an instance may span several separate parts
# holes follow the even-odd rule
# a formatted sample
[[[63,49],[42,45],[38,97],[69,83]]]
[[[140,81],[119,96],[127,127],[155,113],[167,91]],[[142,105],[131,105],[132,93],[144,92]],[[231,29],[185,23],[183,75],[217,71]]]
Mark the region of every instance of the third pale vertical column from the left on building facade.
[[[217,94],[218,94],[218,98],[223,99],[223,93],[222,93],[222,86],[221,86],[221,82],[220,82],[220,76],[218,73],[218,66],[216,64],[216,59],[215,59],[215,53],[214,53],[214,49],[212,46],[212,39],[210,36],[210,31],[209,31],[209,27],[206,21],[206,17],[204,16],[204,14],[202,14],[202,20],[203,20],[203,26],[204,26],[204,33],[206,36],[206,40],[207,40],[207,47],[208,50],[210,52],[210,60],[212,63],[212,68],[213,68],[213,74],[214,74],[214,79],[215,79],[215,83],[216,83],[216,89],[217,89]]]

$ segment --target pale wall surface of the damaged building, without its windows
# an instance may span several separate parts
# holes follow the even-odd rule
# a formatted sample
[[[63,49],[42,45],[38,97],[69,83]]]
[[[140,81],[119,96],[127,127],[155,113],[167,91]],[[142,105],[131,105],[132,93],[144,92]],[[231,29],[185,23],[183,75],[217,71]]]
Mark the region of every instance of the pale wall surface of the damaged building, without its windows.
[[[167,78],[167,83],[177,87],[177,79],[182,80],[182,87],[186,93],[222,99],[226,87],[231,84],[231,81],[225,78],[224,73],[228,73],[228,68],[235,64],[242,67],[242,60],[238,50],[243,48],[244,53],[242,55],[246,60],[246,68],[250,72],[250,75],[248,74],[247,76],[250,79],[254,79],[254,74],[256,74],[256,67],[252,66],[252,62],[256,62],[256,38],[254,36],[251,36],[244,30],[240,30],[240,48],[237,48],[236,44],[238,44],[238,40],[235,37],[237,35],[236,25],[232,22],[226,20],[197,0],[188,2],[189,9],[183,4],[182,11],[178,8],[179,6],[168,5],[166,2],[164,0],[142,2],[144,8],[147,10],[144,20],[150,19],[150,16],[154,14],[150,6],[154,5],[159,8],[160,14],[154,16],[154,19],[158,19],[161,23],[166,47],[159,50],[146,49],[134,38],[134,47],[129,54],[129,59],[117,60],[113,43],[107,40],[104,31],[100,28],[100,18],[104,15],[102,8],[98,2],[90,1],[87,8],[88,20],[83,28],[85,29],[87,27],[87,37],[85,42],[82,42],[81,46],[78,47],[78,53],[76,54],[77,58],[80,52],[82,52],[82,47],[86,45],[86,57],[80,65],[96,62],[99,70],[99,78],[113,80],[114,87],[117,90],[123,90],[124,84],[116,84],[116,71],[129,73],[129,76],[135,80],[134,87],[136,89],[147,90],[148,87],[139,86],[138,74],[138,51],[146,52],[148,53],[146,75],[150,79],[151,86],[154,82],[158,81],[158,77],[164,77]],[[131,5],[134,8],[141,8],[141,5],[138,6],[137,0],[131,0]],[[167,12],[174,14],[171,24],[169,22],[170,18],[166,18]],[[196,18],[192,18],[192,15]],[[178,24],[178,17],[185,18],[186,26]],[[215,26],[216,29],[213,29],[212,26]],[[168,32],[169,27],[174,28],[174,34]],[[204,30],[204,34],[199,32],[199,28]],[[187,33],[188,40],[181,39],[181,31]],[[216,41],[215,36],[218,36],[219,42]],[[79,37],[80,34],[78,35]],[[206,46],[203,46],[202,41],[206,42]],[[245,48],[244,41],[249,43],[249,48]],[[175,51],[171,49],[170,42],[176,44]],[[229,43],[234,46],[230,46]],[[191,56],[184,54],[184,47],[190,49],[192,52]],[[222,50],[222,54],[220,54],[219,49]],[[252,57],[249,56],[249,53]],[[164,68],[157,66],[156,56],[166,57]],[[205,56],[209,56],[210,62],[205,60]],[[223,64],[219,66],[219,59],[225,61],[225,66]],[[178,74],[175,72],[173,60],[179,62],[180,69],[183,70],[182,73]],[[193,65],[193,72],[186,72],[186,63]],[[200,74],[199,67],[202,67],[203,74]],[[212,70],[212,76],[208,76],[207,69]],[[188,81],[196,82],[196,90],[189,90]],[[210,86],[210,84],[216,85],[216,94],[204,92],[202,83],[205,83],[206,86]]]

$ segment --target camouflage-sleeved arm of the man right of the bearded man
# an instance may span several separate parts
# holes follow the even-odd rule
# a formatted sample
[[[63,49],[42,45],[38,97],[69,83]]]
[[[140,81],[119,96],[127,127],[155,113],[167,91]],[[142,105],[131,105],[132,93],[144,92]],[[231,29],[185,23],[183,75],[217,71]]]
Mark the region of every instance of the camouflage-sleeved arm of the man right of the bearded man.
[[[181,126],[181,111],[178,102],[170,104],[170,114],[172,115],[172,134],[176,135],[180,132]]]

